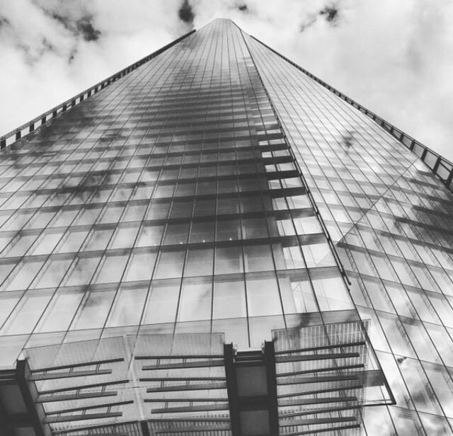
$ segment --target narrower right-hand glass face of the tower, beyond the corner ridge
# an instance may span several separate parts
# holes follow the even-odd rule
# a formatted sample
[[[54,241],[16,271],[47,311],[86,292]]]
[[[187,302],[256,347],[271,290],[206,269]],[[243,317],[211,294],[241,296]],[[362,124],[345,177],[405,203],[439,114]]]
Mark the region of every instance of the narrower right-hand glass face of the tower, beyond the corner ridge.
[[[367,435],[452,435],[452,193],[369,117],[244,38],[396,396],[365,413]]]

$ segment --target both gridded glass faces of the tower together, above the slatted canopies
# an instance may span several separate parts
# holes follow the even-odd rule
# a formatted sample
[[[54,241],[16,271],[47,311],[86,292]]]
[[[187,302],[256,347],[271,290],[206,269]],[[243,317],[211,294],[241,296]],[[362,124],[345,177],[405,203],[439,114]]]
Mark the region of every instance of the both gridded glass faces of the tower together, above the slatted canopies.
[[[396,398],[360,432],[452,435],[452,200],[369,117],[213,21],[0,151],[0,365],[358,323]]]

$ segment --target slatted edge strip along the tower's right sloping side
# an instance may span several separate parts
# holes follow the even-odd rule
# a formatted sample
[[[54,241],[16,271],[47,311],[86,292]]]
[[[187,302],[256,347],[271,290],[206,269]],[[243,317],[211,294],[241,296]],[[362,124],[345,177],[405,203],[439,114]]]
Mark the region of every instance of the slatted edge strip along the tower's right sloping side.
[[[367,108],[365,108],[365,106],[361,105],[360,103],[357,103],[357,101],[352,100],[352,98],[349,98],[344,93],[338,91],[338,89],[333,88],[333,86],[331,86],[331,85],[327,84],[325,81],[319,79],[319,77],[316,77],[314,74],[311,74],[309,71],[300,67],[295,62],[292,62],[292,60],[283,56],[283,54],[280,54],[279,52],[277,52],[277,50],[274,50],[272,47],[269,47],[264,42],[258,40],[258,38],[255,38],[253,35],[250,35],[250,36],[257,42],[259,42],[261,45],[263,45],[264,47],[268,48],[270,51],[272,51],[275,54],[277,54],[278,56],[280,56],[282,59],[285,59],[285,61],[289,62],[289,64],[292,64],[293,67],[296,67],[297,69],[299,69],[299,71],[302,71],[304,74],[306,74],[306,76],[309,76],[311,79],[313,79],[320,85],[324,86],[329,91],[333,92],[336,96],[340,97],[346,103],[349,103],[354,108],[360,110],[360,112],[367,115],[367,117],[371,118],[374,122],[377,123],[377,125],[382,127],[386,132],[391,134],[391,136],[396,138],[398,140],[398,142],[401,142],[401,144],[403,144],[404,147],[411,150],[413,152],[413,154],[415,154],[415,156],[418,156],[423,161],[423,163],[426,166],[428,166],[428,168],[430,168],[432,173],[434,173],[435,176],[437,176],[437,178],[439,178],[442,181],[442,183],[450,191],[453,192],[453,163],[452,162],[450,162],[448,159],[445,159],[445,157],[440,156],[440,154],[436,153],[429,147],[425,146],[425,144],[422,144],[420,141],[417,141],[417,139],[414,139],[409,134],[403,132],[401,129],[398,129],[398,127],[395,127],[390,122],[384,120],[384,118],[379,117],[371,110],[368,110]]]

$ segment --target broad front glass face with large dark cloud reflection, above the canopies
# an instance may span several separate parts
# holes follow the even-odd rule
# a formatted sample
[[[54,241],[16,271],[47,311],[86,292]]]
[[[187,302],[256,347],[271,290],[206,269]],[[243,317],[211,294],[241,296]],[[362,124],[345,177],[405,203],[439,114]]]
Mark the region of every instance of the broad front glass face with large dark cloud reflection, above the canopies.
[[[260,347],[307,312],[358,318],[231,21],[7,147],[0,172],[1,365],[139,333]]]

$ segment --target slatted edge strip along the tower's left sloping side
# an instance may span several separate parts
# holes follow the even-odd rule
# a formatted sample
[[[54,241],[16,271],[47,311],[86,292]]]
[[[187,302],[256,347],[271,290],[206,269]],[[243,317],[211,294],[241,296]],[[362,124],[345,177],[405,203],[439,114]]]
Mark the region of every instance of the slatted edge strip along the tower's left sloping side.
[[[55,117],[57,117],[57,115],[66,112],[71,108],[74,108],[74,106],[86,100],[86,98],[93,96],[94,94],[98,93],[98,91],[101,91],[101,89],[105,88],[110,84],[113,84],[113,82],[117,81],[118,79],[121,79],[122,77],[126,76],[127,74],[134,71],[138,67],[141,67],[143,64],[146,64],[151,59],[154,59],[154,57],[165,52],[170,47],[173,47],[173,45],[178,44],[178,42],[184,40],[188,36],[195,33],[195,31],[196,31],[195,29],[190,30],[190,32],[185,33],[183,36],[180,36],[179,38],[173,40],[172,42],[169,42],[167,45],[164,45],[164,47],[159,48],[159,50],[156,50],[151,54],[147,54],[147,56],[142,57],[142,59],[139,59],[138,61],[134,62],[133,64],[130,64],[128,67],[125,67],[120,71],[117,71],[117,73],[108,76],[106,79],[98,82],[97,84],[90,86],[85,91],[82,91],[81,93],[76,94],[76,96],[69,98],[67,101],[64,101],[63,103],[60,103],[59,105],[55,106],[55,108],[47,110],[45,113],[42,113],[41,115],[38,115],[38,117],[33,118],[33,120],[25,122],[23,125],[16,127],[16,129],[14,130],[11,130],[11,132],[2,135],[0,137],[0,149],[4,149],[7,145],[10,145],[13,142],[18,141],[18,139],[21,139],[22,137],[30,134],[31,132],[34,132],[39,127],[42,127],[43,125],[47,124],[47,122],[49,122],[50,120],[53,120]]]

